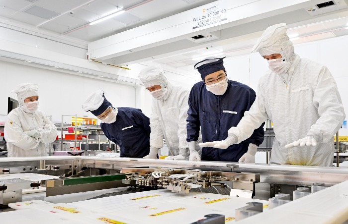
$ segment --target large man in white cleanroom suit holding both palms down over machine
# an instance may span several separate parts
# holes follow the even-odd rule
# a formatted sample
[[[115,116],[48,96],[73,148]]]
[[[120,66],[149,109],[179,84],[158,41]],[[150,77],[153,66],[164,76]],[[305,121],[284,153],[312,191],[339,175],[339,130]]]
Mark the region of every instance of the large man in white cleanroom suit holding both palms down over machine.
[[[294,53],[285,23],[268,27],[252,52],[267,59],[269,67],[256,101],[227,139],[209,144],[224,148],[240,143],[269,118],[275,133],[270,163],[332,166],[333,136],[346,114],[328,68]]]

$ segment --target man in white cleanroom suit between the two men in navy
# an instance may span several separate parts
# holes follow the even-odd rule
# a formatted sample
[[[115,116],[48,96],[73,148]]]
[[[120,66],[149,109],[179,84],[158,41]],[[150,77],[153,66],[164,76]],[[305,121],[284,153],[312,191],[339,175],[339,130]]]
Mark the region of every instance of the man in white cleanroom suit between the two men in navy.
[[[160,65],[144,68],[139,73],[139,79],[153,97],[150,116],[150,154],[144,158],[156,159],[165,138],[171,155],[166,159],[185,160],[188,148],[186,118],[189,90],[170,84],[163,75]]]

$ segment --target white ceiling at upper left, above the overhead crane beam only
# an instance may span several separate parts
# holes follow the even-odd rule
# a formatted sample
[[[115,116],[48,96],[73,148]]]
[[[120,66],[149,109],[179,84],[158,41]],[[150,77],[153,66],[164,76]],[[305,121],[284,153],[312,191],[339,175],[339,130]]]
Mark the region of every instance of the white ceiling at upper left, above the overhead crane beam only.
[[[92,42],[215,0],[0,0],[0,16]],[[122,8],[125,13],[90,22]]]

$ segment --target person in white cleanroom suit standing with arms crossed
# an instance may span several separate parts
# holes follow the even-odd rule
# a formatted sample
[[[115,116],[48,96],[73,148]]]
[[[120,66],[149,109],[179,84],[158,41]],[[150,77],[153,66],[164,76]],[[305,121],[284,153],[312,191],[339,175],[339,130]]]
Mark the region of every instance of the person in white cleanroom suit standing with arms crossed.
[[[17,94],[19,107],[8,113],[4,128],[8,157],[47,156],[45,143],[57,137],[57,128],[44,112],[38,109],[38,86],[23,83],[12,90]]]

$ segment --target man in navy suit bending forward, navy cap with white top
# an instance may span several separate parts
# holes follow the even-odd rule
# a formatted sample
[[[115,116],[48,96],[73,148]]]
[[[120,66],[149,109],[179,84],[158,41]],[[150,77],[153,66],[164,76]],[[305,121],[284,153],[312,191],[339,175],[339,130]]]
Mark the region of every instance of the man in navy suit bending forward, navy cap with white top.
[[[100,119],[105,136],[119,145],[120,157],[143,158],[149,154],[150,119],[140,109],[113,108],[101,90],[89,95],[83,108]]]

